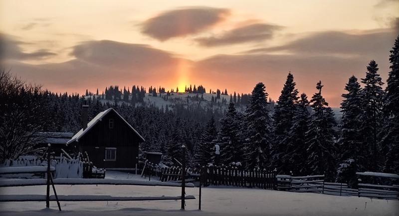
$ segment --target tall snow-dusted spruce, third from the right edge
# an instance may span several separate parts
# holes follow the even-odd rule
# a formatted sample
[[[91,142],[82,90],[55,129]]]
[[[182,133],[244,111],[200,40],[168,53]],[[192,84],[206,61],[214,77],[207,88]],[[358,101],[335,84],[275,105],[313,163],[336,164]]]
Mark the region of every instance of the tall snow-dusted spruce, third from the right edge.
[[[349,78],[345,90],[348,93],[342,95],[344,100],[341,103],[342,118],[339,124],[339,159],[354,159],[358,166],[357,171],[361,171],[365,169],[365,152],[359,127],[362,101],[360,84],[355,76]]]

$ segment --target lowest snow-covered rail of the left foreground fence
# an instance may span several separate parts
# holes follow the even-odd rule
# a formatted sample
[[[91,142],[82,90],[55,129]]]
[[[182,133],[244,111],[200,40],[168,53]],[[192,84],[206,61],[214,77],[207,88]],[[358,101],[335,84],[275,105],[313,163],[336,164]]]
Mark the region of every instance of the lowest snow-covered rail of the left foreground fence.
[[[176,197],[112,197],[107,195],[59,195],[58,200],[64,202],[74,201],[155,201],[155,200],[181,200],[181,196]],[[185,197],[186,200],[196,199],[193,195]],[[46,201],[45,195],[2,195],[0,202],[30,202]],[[55,196],[50,196],[50,201],[55,201]]]

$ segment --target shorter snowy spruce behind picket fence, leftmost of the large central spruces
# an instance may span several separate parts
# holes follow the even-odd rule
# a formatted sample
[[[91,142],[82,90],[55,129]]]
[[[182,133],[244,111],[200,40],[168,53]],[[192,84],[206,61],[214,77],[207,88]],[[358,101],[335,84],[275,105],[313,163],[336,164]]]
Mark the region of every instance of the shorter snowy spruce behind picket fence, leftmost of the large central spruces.
[[[226,114],[220,119],[220,130],[215,140],[215,144],[220,146],[220,162],[222,164],[242,161],[241,137],[237,111],[234,104],[230,103]]]

